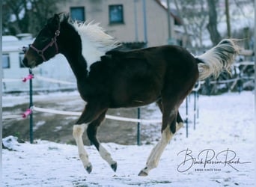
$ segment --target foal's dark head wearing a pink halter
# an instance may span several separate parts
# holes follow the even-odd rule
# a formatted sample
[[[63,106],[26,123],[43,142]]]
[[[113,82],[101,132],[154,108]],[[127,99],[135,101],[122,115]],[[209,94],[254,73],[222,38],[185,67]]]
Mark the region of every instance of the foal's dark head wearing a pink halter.
[[[25,67],[36,67],[43,61],[48,61],[58,53],[57,37],[60,34],[60,17],[55,14],[48,19],[46,25],[39,32],[34,43],[28,49],[25,47],[23,51],[25,56],[23,64]]]

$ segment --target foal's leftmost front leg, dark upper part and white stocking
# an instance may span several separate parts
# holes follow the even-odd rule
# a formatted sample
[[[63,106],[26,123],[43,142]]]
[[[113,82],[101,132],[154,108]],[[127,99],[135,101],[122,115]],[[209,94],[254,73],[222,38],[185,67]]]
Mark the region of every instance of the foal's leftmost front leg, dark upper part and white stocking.
[[[85,132],[85,128],[87,128],[88,123],[99,117],[102,112],[102,108],[95,108],[92,105],[86,105],[85,110],[82,112],[82,115],[79,117],[76,125],[73,126],[73,138],[76,140],[79,158],[81,159],[85,170],[88,171],[89,174],[91,173],[92,166],[88,159],[88,153],[85,151],[82,135]]]

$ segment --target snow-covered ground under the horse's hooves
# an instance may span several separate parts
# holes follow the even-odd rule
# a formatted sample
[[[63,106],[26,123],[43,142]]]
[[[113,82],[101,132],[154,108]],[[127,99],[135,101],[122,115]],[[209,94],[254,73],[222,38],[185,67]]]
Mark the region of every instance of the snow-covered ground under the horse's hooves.
[[[86,146],[93,165],[87,174],[76,146],[43,140],[21,144],[10,136],[3,139],[8,149],[2,151],[1,183],[49,187],[255,186],[254,103],[255,95],[249,91],[200,96],[196,129],[190,125],[189,138],[186,129],[180,129],[148,177],[137,174],[156,142],[141,146],[103,144],[118,162],[116,173],[94,147]],[[197,162],[192,163],[191,158]]]

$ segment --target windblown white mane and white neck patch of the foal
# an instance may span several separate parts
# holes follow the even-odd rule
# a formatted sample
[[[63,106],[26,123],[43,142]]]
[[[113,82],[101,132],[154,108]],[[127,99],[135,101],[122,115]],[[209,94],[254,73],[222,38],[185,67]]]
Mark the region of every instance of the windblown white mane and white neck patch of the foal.
[[[106,34],[99,23],[73,22],[82,40],[82,55],[88,64],[88,69],[100,57],[111,49],[118,47],[118,41],[114,37]]]

